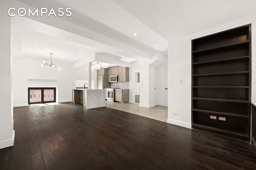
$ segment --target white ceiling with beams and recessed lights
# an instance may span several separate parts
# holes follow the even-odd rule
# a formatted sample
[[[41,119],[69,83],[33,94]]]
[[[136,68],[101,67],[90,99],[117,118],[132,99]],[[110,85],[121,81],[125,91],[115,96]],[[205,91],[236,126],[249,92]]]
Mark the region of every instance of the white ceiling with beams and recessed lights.
[[[63,19],[76,24],[74,29],[84,28],[84,34],[13,17],[14,57],[46,60],[53,53],[53,61],[68,63],[95,53],[124,62],[150,59],[157,52],[167,55],[170,39],[256,13],[256,0],[18,1],[36,8],[70,7],[72,16]]]

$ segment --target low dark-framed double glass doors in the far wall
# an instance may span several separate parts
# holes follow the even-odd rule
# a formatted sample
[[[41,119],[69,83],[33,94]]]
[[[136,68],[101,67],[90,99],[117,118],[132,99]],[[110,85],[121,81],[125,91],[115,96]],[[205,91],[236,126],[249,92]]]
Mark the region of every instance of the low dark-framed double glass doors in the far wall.
[[[28,88],[28,104],[56,102],[56,88]]]

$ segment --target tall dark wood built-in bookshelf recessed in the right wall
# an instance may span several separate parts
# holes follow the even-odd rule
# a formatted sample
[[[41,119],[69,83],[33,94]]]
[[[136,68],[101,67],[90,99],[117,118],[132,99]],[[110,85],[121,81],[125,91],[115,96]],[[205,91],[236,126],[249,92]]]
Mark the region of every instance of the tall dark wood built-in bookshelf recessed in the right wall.
[[[192,128],[250,140],[251,24],[192,40]]]

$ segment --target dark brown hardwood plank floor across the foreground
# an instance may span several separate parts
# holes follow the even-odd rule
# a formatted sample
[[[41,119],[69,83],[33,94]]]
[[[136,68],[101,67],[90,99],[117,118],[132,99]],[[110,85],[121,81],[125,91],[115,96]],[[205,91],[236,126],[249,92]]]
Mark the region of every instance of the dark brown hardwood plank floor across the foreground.
[[[0,170],[256,169],[252,145],[107,107],[14,108]]]

